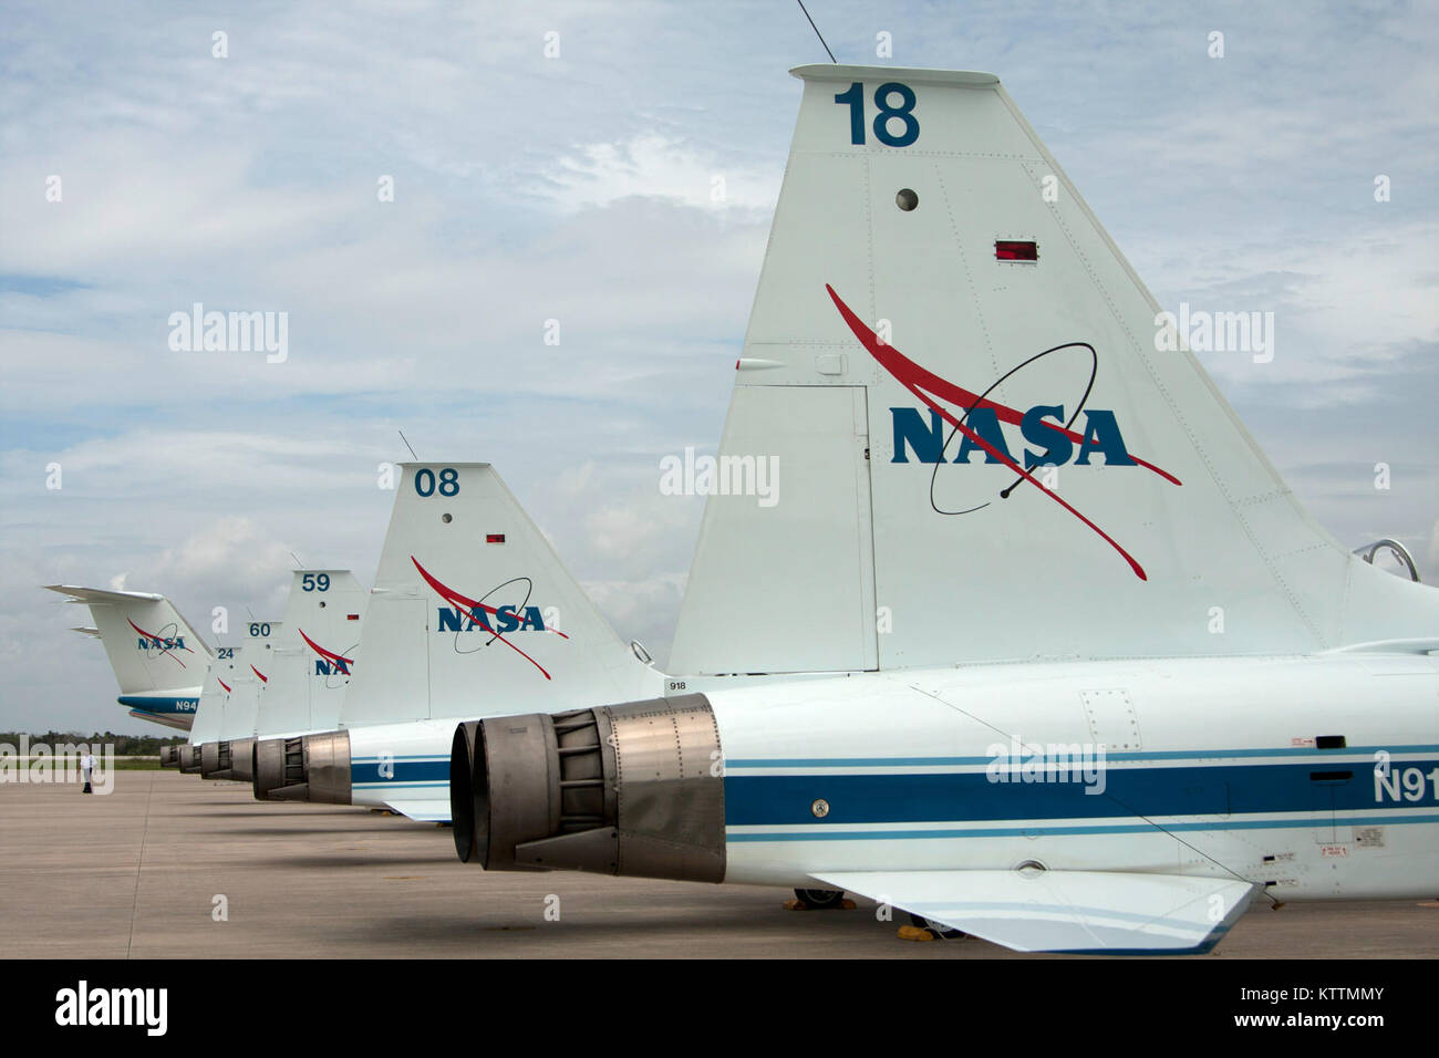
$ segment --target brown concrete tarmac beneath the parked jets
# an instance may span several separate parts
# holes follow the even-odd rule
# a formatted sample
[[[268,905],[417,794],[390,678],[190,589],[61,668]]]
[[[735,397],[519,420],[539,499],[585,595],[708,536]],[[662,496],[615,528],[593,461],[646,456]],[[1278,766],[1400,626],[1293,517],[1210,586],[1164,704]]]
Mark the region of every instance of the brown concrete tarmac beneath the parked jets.
[[[908,918],[786,911],[783,890],[485,874],[452,832],[354,808],[269,805],[249,785],[117,772],[0,786],[10,957],[1033,959],[898,940]],[[217,921],[222,905],[227,920]],[[1258,907],[1200,959],[1439,954],[1439,901]]]

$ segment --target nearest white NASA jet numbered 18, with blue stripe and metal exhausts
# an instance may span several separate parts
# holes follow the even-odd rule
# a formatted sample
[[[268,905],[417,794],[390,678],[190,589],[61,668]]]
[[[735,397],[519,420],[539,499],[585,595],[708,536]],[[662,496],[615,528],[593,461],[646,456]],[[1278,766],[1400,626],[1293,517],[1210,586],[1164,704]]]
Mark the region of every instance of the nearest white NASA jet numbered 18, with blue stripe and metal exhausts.
[[[996,78],[793,73],[692,675],[462,724],[460,858],[1029,951],[1439,891],[1439,592],[1301,508]]]

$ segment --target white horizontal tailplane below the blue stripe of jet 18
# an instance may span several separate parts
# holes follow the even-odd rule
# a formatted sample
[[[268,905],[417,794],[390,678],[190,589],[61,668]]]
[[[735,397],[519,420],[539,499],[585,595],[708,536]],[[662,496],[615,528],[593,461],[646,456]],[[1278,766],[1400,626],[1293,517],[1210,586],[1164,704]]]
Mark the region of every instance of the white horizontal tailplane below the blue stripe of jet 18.
[[[1104,871],[842,871],[836,890],[973,933],[1016,951],[1207,951],[1255,887],[1226,878]]]

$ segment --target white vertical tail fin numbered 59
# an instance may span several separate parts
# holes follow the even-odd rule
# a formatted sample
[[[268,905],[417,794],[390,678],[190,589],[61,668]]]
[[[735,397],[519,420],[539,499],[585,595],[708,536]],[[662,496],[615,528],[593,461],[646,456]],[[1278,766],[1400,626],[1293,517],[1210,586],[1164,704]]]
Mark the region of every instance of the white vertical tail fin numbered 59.
[[[295,570],[281,629],[269,636],[256,736],[328,731],[340,723],[368,599],[350,570]]]

